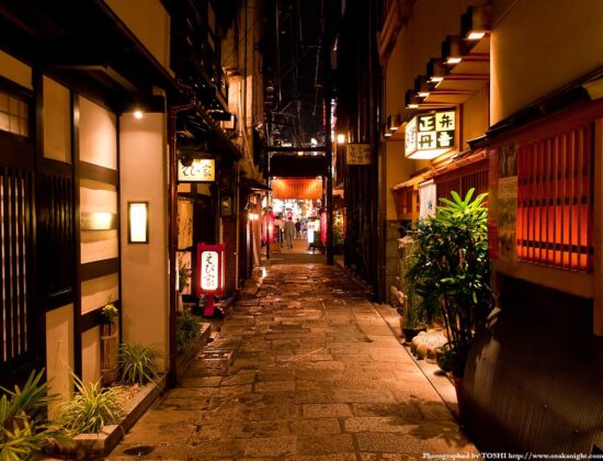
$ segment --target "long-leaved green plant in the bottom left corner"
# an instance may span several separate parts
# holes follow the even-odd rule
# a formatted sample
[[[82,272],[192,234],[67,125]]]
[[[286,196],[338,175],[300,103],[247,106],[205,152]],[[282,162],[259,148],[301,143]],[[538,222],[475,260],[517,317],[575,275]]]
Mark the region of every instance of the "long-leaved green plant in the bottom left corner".
[[[0,460],[18,461],[39,453],[49,440],[67,443],[62,428],[45,417],[48,403],[57,395],[48,395],[48,383],[42,382],[44,370],[34,371],[23,389],[5,387],[0,397]]]

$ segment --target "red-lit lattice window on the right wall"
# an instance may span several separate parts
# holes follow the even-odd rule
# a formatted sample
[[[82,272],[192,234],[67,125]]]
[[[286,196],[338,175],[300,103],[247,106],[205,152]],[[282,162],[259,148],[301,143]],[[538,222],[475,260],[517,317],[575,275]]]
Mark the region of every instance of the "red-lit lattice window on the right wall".
[[[517,258],[593,269],[593,126],[520,146]]]

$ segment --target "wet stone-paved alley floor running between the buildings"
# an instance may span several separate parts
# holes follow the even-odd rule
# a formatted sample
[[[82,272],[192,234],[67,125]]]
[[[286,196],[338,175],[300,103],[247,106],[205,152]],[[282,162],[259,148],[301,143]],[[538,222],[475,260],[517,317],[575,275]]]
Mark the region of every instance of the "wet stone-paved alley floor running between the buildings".
[[[443,453],[478,452],[362,289],[338,267],[283,265],[110,459]]]

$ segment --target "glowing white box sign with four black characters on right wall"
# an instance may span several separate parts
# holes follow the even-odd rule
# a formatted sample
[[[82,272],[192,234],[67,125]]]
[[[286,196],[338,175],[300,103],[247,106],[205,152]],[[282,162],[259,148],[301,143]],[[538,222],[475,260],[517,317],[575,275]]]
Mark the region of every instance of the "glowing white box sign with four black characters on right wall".
[[[431,160],[455,146],[456,112],[417,115],[405,128],[405,154],[417,160]]]

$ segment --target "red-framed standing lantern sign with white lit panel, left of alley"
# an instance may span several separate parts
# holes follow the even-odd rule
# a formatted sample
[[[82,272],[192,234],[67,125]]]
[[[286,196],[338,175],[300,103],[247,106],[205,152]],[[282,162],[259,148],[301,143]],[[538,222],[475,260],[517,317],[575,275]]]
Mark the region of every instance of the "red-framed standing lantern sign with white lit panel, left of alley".
[[[203,315],[214,315],[214,296],[221,296],[225,288],[226,245],[197,245],[197,296],[207,295]]]

